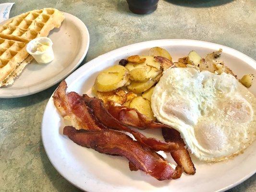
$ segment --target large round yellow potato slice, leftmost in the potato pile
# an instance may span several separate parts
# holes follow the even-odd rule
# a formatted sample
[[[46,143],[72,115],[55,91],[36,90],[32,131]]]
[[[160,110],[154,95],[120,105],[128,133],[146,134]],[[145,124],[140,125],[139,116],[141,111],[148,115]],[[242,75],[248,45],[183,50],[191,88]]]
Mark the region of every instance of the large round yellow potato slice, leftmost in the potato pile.
[[[122,65],[114,65],[98,74],[95,88],[100,92],[113,91],[122,87],[128,80],[129,71]]]

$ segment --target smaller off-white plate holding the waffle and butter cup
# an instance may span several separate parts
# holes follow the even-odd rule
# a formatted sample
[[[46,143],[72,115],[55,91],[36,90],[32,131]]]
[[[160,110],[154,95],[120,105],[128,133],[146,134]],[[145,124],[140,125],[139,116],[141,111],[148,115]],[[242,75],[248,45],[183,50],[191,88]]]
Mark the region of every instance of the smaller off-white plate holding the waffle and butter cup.
[[[48,36],[53,42],[54,60],[48,64],[32,60],[12,85],[0,88],[0,98],[28,96],[43,91],[59,83],[82,62],[89,48],[89,32],[77,17],[66,12],[64,16],[61,27],[53,29]]]

